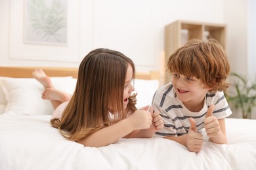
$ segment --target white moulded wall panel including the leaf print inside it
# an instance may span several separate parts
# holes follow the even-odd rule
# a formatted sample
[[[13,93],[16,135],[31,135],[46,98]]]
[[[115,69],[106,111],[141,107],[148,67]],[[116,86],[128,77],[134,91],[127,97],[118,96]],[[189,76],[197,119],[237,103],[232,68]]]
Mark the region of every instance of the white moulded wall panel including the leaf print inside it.
[[[9,58],[79,63],[93,48],[93,1],[10,2]]]

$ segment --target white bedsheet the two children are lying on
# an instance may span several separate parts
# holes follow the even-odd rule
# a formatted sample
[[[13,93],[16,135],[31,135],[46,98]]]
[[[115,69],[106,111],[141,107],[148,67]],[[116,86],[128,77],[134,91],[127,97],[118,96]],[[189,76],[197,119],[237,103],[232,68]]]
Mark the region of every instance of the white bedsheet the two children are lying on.
[[[100,148],[68,141],[51,116],[0,116],[0,169],[255,169],[256,120],[226,119],[229,144],[200,152],[167,139],[121,139]]]

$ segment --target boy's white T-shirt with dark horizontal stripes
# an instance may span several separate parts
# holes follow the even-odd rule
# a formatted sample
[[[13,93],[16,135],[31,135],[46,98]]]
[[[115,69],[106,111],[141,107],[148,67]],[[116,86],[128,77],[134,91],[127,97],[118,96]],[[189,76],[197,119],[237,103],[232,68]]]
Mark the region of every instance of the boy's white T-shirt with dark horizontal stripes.
[[[152,105],[160,112],[164,127],[155,133],[155,137],[177,136],[188,133],[189,118],[194,118],[198,131],[204,129],[203,120],[210,105],[215,105],[213,116],[217,119],[226,118],[232,114],[223,92],[207,93],[202,110],[191,112],[178,99],[173,85],[166,84],[158,90],[153,98]]]

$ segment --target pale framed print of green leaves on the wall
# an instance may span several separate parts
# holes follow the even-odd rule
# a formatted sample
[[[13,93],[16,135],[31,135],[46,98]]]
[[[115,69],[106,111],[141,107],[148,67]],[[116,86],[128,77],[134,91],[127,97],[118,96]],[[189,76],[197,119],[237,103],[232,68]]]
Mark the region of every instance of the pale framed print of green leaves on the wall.
[[[67,43],[67,0],[24,1],[24,42]]]

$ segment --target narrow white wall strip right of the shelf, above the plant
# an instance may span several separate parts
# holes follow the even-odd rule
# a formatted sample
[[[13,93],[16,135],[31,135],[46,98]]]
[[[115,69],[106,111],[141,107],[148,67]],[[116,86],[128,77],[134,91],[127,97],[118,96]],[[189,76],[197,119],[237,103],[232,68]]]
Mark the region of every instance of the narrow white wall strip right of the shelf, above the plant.
[[[248,5],[244,0],[224,1],[224,20],[227,29],[227,54],[231,71],[247,73],[248,68]]]

